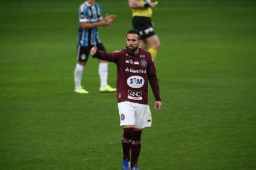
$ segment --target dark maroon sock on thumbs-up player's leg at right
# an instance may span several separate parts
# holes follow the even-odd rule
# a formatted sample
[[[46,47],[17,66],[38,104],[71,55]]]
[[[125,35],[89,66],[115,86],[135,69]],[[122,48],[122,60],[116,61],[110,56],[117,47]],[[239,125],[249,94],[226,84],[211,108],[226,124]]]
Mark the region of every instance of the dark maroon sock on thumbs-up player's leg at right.
[[[132,159],[131,164],[137,164],[137,160],[139,158],[139,153],[141,152],[141,133],[142,131],[134,131],[134,135],[132,136]]]

